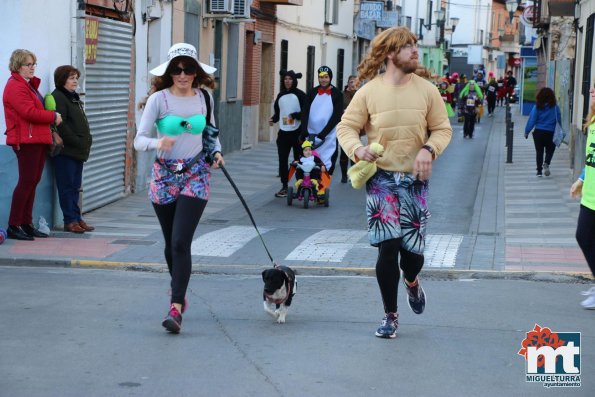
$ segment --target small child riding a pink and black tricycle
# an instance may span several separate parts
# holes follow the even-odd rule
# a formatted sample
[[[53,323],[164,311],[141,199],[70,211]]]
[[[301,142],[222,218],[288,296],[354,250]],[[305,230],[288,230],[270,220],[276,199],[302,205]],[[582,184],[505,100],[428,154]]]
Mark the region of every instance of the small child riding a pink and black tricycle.
[[[289,179],[295,172],[295,193],[293,186],[288,189],[287,205],[291,205],[294,198],[304,200],[304,208],[308,208],[309,201],[318,197],[321,186],[321,175],[326,172],[324,163],[312,150],[312,142],[306,140],[302,143],[303,156],[299,161],[291,163]],[[327,189],[328,190],[328,189]],[[319,203],[328,207],[328,194],[318,197]]]

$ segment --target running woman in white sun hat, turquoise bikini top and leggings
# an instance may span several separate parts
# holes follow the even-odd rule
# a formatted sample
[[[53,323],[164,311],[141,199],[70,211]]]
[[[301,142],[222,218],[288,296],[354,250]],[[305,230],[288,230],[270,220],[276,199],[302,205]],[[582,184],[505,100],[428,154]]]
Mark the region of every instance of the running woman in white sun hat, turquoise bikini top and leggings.
[[[167,61],[151,70],[154,92],[147,99],[134,147],[157,150],[149,199],[165,239],[165,260],[171,275],[171,302],[162,325],[179,333],[187,308],[186,290],[192,271],[190,246],[210,193],[211,166],[224,165],[219,138],[203,145],[207,124],[215,125],[214,101],[207,90],[215,68],[198,61],[194,46],[173,45]],[[157,128],[157,138],[151,129]],[[208,147],[208,149],[207,149]]]

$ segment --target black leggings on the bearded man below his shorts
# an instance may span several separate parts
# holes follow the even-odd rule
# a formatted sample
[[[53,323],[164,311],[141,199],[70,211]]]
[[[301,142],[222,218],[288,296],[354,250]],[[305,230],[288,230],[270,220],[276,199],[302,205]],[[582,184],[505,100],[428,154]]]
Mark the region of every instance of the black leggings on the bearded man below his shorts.
[[[399,253],[401,254],[400,264]],[[400,238],[380,243],[376,261],[376,280],[380,287],[385,313],[397,312],[397,291],[401,277],[399,267],[403,270],[405,280],[413,282],[423,265],[423,255],[417,255],[401,248]]]

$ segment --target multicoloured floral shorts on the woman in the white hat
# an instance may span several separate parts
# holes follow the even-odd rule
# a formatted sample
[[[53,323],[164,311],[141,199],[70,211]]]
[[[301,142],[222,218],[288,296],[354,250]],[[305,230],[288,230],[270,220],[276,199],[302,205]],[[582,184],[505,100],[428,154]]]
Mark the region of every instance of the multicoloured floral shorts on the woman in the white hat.
[[[184,160],[184,163],[191,159]],[[159,159],[153,163],[151,183],[149,184],[149,200],[154,204],[169,204],[177,200],[178,196],[195,197],[208,200],[211,193],[210,166],[204,158],[197,161],[183,174],[172,174],[179,160]]]

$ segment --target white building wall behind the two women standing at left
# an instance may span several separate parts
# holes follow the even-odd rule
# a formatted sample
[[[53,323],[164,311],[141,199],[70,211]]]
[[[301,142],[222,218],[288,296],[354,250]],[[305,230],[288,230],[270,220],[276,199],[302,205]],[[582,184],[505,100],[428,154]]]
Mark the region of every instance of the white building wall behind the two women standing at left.
[[[53,91],[56,67],[75,63],[76,44],[71,40],[71,23],[75,21],[76,1],[52,0],[51,3],[50,6],[47,0],[2,0],[0,37],[6,38],[0,46],[2,91],[10,77],[10,55],[17,48],[27,49],[37,57],[35,75],[41,79],[39,91],[42,95]],[[0,106],[0,131],[0,144],[5,145],[3,106]]]

